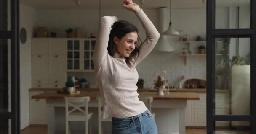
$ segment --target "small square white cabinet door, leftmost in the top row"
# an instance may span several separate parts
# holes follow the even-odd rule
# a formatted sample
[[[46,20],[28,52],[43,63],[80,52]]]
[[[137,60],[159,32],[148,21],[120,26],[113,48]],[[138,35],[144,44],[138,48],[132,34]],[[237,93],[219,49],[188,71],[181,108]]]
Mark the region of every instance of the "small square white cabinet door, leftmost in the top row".
[[[32,38],[32,54],[48,54],[49,53],[49,43],[48,38]]]

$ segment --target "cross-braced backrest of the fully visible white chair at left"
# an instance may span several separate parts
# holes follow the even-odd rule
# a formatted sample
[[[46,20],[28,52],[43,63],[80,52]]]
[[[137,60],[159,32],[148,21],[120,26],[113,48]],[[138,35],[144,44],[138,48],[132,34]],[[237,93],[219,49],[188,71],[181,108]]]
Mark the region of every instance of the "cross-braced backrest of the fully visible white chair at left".
[[[88,116],[88,102],[90,97],[65,97],[66,117],[74,111],[80,111],[85,116]],[[82,108],[84,107],[84,109]]]

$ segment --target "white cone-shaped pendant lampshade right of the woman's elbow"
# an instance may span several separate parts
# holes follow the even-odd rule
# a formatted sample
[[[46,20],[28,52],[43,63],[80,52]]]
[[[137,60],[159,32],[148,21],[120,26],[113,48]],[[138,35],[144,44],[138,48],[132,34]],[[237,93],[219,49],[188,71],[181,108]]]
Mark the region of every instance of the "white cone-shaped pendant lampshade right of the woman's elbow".
[[[156,51],[162,52],[174,52],[175,49],[171,46],[170,42],[168,41],[168,36],[161,35],[157,41],[155,46]]]

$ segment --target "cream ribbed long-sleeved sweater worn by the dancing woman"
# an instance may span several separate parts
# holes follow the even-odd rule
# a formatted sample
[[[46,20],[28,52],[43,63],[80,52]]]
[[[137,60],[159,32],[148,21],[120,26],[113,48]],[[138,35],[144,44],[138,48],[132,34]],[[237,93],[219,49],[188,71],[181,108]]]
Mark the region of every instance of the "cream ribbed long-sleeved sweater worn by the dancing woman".
[[[96,46],[94,49],[95,79],[104,100],[102,117],[126,118],[136,116],[147,110],[142,101],[139,101],[136,83],[139,75],[135,69],[154,48],[160,37],[157,29],[143,10],[135,13],[146,31],[147,38],[142,42],[139,57],[133,67],[128,67],[123,55],[108,54],[107,46],[111,26],[117,17],[104,16],[99,23]]]

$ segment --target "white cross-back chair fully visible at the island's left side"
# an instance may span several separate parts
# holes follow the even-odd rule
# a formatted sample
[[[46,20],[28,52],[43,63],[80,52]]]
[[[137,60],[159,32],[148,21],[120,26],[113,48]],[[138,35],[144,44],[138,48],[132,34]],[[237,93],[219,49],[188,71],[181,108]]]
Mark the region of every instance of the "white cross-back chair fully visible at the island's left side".
[[[90,97],[65,97],[66,134],[71,132],[70,121],[85,121],[85,134],[88,134],[89,119],[93,115],[88,112],[89,101]]]

